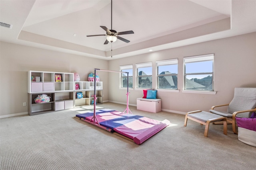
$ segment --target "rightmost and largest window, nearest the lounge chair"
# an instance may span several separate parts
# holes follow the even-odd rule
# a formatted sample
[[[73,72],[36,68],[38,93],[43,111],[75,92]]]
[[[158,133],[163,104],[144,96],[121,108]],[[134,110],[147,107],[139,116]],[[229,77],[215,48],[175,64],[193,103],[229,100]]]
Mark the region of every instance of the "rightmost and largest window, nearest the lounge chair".
[[[214,91],[214,54],[184,57],[184,90]]]

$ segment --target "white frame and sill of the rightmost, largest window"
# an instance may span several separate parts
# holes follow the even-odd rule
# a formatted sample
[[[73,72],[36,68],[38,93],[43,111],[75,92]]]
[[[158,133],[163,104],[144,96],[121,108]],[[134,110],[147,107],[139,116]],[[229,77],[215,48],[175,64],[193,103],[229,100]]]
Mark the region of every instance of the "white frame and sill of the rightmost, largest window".
[[[195,63],[195,62],[201,62],[201,61],[212,61],[212,72],[198,72],[198,73],[186,73],[186,63]],[[197,55],[197,56],[191,56],[191,57],[184,57],[183,58],[183,65],[184,65],[184,83],[183,83],[183,92],[210,92],[209,94],[216,94],[211,93],[214,92],[214,54],[206,54],[206,55]],[[196,75],[196,74],[212,74],[212,90],[192,90],[192,89],[186,89],[186,75]]]

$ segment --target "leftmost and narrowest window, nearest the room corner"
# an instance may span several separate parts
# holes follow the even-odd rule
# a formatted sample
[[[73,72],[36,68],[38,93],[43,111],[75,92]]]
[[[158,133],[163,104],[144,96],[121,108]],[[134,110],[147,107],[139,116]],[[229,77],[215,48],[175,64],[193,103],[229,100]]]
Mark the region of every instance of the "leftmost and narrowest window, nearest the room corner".
[[[132,64],[120,66],[120,71],[122,72],[129,72],[128,78],[126,73],[120,73],[120,87],[126,87],[127,88],[127,80],[128,80],[128,87],[132,88]]]

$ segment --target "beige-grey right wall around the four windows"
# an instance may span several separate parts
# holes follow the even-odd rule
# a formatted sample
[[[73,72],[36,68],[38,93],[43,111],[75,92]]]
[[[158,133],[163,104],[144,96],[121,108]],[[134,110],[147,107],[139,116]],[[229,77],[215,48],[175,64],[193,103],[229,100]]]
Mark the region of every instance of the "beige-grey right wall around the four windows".
[[[183,57],[214,53],[214,94],[183,93]],[[114,57],[114,56],[113,56]],[[208,111],[211,106],[228,104],[235,87],[256,87],[256,32],[245,35],[208,41],[174,49],[156,51],[133,57],[109,61],[109,69],[119,70],[120,65],[150,62],[153,65],[153,88],[156,88],[156,61],[178,58],[179,92],[157,92],[162,99],[162,109],[176,113],[193,110]],[[135,84],[135,69],[134,69]],[[134,86],[135,87],[135,86]],[[126,103],[126,90],[119,90],[119,78],[109,74],[109,101]],[[142,90],[130,90],[129,103],[136,105]],[[223,108],[226,109],[226,108]]]

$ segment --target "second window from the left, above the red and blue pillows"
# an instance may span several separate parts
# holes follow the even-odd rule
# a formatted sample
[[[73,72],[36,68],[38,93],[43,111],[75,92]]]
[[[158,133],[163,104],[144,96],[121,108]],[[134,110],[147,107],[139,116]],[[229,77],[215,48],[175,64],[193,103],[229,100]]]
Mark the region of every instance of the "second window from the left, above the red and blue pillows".
[[[137,88],[152,88],[152,63],[136,64]]]

